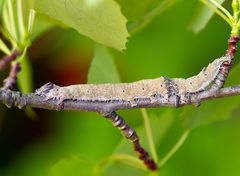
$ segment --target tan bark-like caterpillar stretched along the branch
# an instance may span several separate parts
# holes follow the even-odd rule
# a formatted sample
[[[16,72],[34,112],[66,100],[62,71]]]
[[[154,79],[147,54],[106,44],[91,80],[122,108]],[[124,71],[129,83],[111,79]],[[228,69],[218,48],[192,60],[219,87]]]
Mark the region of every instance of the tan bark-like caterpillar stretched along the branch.
[[[36,90],[36,94],[44,96],[45,100],[55,99],[59,104],[67,100],[86,102],[90,107],[82,107],[84,111],[107,111],[134,107],[156,107],[158,105],[179,106],[188,102],[190,94],[196,94],[216,86],[223,80],[220,70],[224,62],[231,58],[224,56],[214,60],[196,76],[184,78],[159,77],[133,83],[120,84],[79,84],[60,87],[47,83]],[[102,103],[100,109],[91,108],[91,102]],[[125,103],[127,106],[118,106]],[[106,105],[107,107],[104,107]]]

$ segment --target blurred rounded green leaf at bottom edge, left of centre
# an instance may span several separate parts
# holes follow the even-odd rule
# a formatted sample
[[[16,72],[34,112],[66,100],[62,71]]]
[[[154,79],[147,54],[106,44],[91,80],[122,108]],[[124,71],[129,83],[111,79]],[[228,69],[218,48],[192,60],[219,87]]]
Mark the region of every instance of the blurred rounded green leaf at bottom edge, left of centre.
[[[91,175],[91,164],[79,157],[73,156],[61,159],[50,168],[51,176]]]

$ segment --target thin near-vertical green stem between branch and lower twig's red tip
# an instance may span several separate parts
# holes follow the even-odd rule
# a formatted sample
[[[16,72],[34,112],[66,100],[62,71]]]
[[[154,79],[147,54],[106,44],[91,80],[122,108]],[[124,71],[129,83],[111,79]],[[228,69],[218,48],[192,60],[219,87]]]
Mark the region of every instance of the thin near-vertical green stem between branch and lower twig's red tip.
[[[143,122],[146,130],[148,146],[150,148],[153,159],[155,160],[155,162],[158,162],[158,156],[157,156],[157,152],[153,142],[153,135],[152,135],[151,125],[149,122],[149,116],[147,114],[147,110],[141,109],[141,113],[142,113]]]

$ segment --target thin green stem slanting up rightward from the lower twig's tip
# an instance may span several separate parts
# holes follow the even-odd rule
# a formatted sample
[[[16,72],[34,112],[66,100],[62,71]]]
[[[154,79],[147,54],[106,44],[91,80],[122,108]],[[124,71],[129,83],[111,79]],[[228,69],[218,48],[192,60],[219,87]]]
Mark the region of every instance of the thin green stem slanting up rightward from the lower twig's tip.
[[[183,145],[185,140],[187,139],[189,135],[190,130],[186,129],[183,134],[180,136],[177,143],[173,146],[173,148],[164,156],[164,158],[159,162],[158,166],[162,167],[177,151],[178,149]]]

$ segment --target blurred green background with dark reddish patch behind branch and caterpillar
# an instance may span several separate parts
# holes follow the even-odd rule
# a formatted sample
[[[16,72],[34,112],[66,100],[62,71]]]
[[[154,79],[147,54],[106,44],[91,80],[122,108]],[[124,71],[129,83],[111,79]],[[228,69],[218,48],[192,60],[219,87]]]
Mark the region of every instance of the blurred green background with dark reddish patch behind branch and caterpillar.
[[[118,0],[129,24],[141,19],[159,2]],[[224,6],[229,7],[229,4],[230,1],[226,1]],[[197,74],[209,62],[224,55],[230,34],[230,28],[218,16],[198,34],[189,30],[198,6],[197,0],[177,1],[132,34],[124,53],[108,49],[111,63],[103,61],[97,66],[105,69],[107,76],[115,74],[112,72],[116,66],[122,82],[159,76],[186,78]],[[38,26],[40,28],[41,23],[36,24]],[[103,46],[98,44],[98,47]],[[34,88],[47,82],[62,86],[87,83],[94,48],[96,44],[92,40],[73,29],[49,28],[33,41],[28,51]],[[237,54],[228,85],[239,83],[238,60]],[[113,71],[108,72],[112,62],[115,63]],[[106,80],[95,74],[98,81]],[[7,70],[1,72],[1,79],[6,75]],[[160,159],[185,129],[191,129],[185,143],[158,175],[240,175],[239,105],[239,98],[230,97],[204,102],[199,108],[148,109]],[[98,164],[114,153],[136,156],[131,143],[122,139],[119,131],[101,116],[84,112],[34,111],[37,117],[31,119],[23,110],[0,105],[1,176],[151,174],[130,167],[124,161],[108,162],[101,171],[96,171]],[[126,110],[120,114],[137,129],[148,148],[140,111]]]

